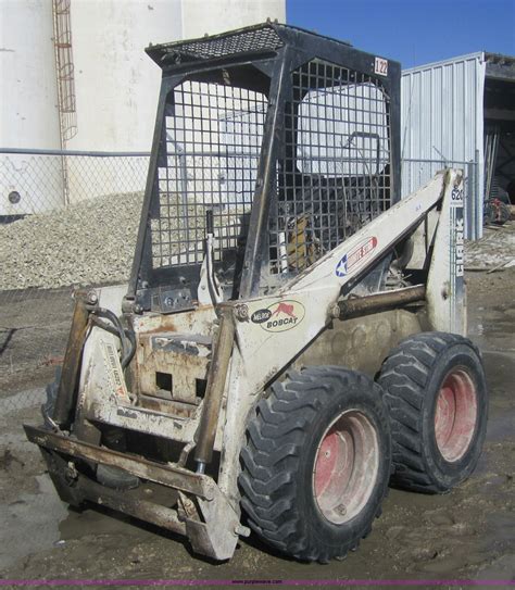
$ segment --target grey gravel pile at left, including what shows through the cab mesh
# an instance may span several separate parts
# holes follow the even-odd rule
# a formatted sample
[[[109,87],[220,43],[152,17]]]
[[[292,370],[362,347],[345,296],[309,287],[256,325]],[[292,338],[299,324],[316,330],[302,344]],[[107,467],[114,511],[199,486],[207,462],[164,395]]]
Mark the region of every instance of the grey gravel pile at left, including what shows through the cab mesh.
[[[140,192],[109,196],[0,225],[0,291],[127,280],[142,198]],[[222,246],[234,246],[247,208],[231,208],[229,212],[212,206]],[[161,218],[151,222],[153,263],[166,266],[201,260],[205,206],[189,203],[185,208],[176,194],[168,199],[161,196],[160,213]]]

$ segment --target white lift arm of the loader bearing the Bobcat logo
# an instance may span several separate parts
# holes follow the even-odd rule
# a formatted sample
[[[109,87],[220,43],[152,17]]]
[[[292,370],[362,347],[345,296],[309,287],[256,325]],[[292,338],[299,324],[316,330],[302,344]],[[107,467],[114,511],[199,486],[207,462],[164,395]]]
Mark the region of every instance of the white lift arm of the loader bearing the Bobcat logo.
[[[244,425],[259,393],[330,323],[340,293],[348,292],[369,272],[443,193],[449,200],[456,178],[461,179],[461,175],[455,171],[437,175],[426,187],[393,205],[298,275],[277,296],[236,305],[238,346],[233,352],[226,384],[229,394],[218,480],[225,493],[233,497],[237,493]]]

